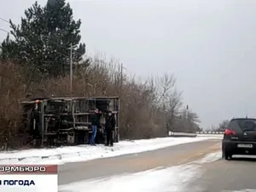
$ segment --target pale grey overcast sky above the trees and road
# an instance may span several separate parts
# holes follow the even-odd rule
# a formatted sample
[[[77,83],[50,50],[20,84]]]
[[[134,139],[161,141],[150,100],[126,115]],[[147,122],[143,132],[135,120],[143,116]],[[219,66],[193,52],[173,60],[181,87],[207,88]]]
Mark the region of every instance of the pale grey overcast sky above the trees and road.
[[[38,0],[44,4],[47,0]],[[20,22],[34,0],[0,0]],[[256,116],[255,0],[69,0],[89,53],[122,61],[145,78],[174,73],[183,101],[207,128]],[[0,20],[0,28],[9,25]],[[0,41],[6,34],[0,31]]]

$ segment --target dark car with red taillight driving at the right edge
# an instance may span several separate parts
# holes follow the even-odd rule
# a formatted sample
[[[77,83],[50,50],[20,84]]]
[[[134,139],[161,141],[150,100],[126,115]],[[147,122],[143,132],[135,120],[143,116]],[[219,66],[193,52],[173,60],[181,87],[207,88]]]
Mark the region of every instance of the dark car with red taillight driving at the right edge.
[[[222,152],[225,160],[232,155],[256,155],[256,119],[232,119],[224,131]]]

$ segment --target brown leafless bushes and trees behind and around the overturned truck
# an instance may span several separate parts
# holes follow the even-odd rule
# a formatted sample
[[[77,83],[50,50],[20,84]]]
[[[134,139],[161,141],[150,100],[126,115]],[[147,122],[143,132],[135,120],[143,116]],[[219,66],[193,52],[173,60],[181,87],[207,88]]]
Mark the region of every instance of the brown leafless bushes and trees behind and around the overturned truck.
[[[26,93],[32,93],[33,98],[71,94],[69,76],[32,81],[29,73],[22,70],[12,63],[0,63],[0,146],[3,148],[22,147],[26,133],[20,132],[18,102],[26,99]],[[75,68],[73,95],[119,96],[121,138],[166,136],[167,130],[177,124],[174,120],[181,107],[181,94],[172,75],[136,82],[135,78],[121,76],[117,62],[106,62],[100,57],[92,59],[88,67]]]

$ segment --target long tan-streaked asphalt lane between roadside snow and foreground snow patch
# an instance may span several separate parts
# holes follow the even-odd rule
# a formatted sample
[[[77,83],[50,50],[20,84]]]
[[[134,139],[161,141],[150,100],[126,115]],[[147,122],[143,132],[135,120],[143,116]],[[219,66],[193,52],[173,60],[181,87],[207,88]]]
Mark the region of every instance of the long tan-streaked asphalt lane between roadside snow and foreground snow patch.
[[[108,177],[125,172],[142,172],[156,167],[172,167],[201,159],[219,149],[219,139],[211,139],[134,155],[67,163],[59,167],[59,184],[70,184],[84,179]]]

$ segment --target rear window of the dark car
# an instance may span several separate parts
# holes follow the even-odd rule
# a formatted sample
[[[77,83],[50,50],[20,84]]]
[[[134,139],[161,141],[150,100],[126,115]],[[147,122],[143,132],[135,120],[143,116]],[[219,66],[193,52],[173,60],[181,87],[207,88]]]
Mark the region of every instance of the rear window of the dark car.
[[[239,119],[230,121],[230,129],[241,129],[242,131],[256,131],[256,120]]]

